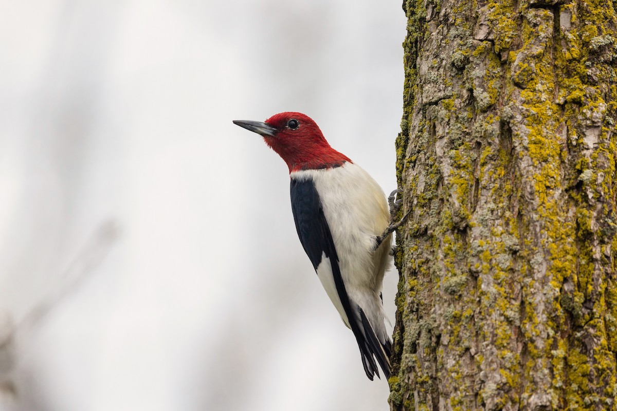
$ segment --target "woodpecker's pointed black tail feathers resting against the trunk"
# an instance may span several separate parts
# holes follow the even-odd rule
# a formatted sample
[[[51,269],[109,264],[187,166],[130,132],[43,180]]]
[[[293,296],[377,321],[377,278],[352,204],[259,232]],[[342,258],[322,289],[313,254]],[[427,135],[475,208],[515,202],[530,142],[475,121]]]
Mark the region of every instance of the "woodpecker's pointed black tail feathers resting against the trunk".
[[[360,354],[362,355],[362,365],[366,376],[372,381],[373,376],[376,374],[378,378],[379,370],[377,364],[383,370],[386,378],[390,378],[390,354],[392,352],[392,343],[387,335],[382,336],[382,343],[379,336],[375,332],[375,328],[371,325],[370,321],[366,317],[364,310],[361,307],[357,307],[360,331],[354,332],[358,346],[360,347]],[[352,330],[355,327],[352,327]],[[377,362],[375,362],[375,359]]]

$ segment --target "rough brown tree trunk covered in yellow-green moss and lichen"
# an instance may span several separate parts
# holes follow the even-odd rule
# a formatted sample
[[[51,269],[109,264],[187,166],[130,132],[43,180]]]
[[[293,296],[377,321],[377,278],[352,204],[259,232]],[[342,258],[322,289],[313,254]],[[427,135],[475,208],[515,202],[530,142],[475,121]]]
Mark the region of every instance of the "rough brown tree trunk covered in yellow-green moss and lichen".
[[[616,8],[405,2],[392,410],[617,409]]]

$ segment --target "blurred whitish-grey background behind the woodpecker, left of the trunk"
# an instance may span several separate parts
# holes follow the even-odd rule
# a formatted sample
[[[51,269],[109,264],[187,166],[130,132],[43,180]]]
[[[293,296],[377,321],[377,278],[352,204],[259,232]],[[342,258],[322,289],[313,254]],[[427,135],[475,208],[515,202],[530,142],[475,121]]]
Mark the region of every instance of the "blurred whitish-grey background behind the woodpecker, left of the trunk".
[[[304,112],[390,192],[404,35],[400,1],[2,0],[0,408],[387,410],[231,120]]]

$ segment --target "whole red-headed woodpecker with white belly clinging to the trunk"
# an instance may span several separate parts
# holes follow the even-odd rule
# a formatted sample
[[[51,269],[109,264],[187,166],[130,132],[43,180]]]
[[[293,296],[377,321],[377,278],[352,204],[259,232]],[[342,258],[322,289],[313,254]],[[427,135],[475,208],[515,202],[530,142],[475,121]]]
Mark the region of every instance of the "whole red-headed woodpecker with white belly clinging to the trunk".
[[[285,112],[260,121],[234,120],[256,132],[289,168],[296,231],[328,297],[352,330],[366,376],[390,376],[392,342],[381,288],[391,264],[392,232],[386,196],[377,182],[334,150],[309,116]],[[390,205],[394,204],[394,192]],[[400,206],[400,202],[397,202]],[[375,362],[376,360],[376,362]]]

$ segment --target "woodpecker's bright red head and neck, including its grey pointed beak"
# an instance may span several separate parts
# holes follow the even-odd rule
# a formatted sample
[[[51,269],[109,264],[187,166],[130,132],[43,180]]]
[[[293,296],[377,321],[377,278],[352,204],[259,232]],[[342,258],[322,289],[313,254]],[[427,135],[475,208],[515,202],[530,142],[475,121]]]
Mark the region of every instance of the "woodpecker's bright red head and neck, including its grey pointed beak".
[[[289,173],[303,169],[332,168],[351,161],[334,150],[309,116],[302,113],[278,113],[265,121],[234,121],[238,126],[257,132],[285,160]]]

